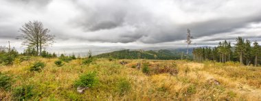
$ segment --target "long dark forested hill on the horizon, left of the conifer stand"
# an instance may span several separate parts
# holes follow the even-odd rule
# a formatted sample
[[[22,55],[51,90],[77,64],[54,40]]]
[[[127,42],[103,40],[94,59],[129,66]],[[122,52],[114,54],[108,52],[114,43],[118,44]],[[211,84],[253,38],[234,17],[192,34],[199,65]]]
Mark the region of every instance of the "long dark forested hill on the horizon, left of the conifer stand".
[[[191,49],[190,49],[191,50]],[[186,50],[185,50],[186,51]],[[94,57],[114,58],[114,59],[181,59],[183,52],[183,59],[185,58],[184,50],[159,50],[159,51],[114,51],[111,53],[103,53],[95,55]],[[191,52],[191,51],[190,51]],[[190,59],[191,59],[190,55]]]

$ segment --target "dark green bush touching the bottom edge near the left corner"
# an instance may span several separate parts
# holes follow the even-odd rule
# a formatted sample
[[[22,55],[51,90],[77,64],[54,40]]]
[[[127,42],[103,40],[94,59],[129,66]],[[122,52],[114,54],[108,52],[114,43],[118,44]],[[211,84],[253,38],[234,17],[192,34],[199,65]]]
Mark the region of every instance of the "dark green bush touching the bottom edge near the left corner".
[[[28,100],[34,96],[32,85],[23,85],[14,88],[13,96],[16,100]]]

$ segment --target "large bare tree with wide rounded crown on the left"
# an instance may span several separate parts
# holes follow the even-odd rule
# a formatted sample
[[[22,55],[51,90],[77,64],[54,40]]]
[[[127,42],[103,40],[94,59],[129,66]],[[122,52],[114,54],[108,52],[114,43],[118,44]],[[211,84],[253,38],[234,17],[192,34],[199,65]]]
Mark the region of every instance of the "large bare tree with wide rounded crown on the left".
[[[37,55],[41,55],[42,48],[45,48],[54,43],[54,35],[49,35],[49,29],[43,27],[43,23],[34,21],[25,23],[20,31],[23,33],[19,35],[18,39],[23,39],[22,45],[27,48],[36,48]]]

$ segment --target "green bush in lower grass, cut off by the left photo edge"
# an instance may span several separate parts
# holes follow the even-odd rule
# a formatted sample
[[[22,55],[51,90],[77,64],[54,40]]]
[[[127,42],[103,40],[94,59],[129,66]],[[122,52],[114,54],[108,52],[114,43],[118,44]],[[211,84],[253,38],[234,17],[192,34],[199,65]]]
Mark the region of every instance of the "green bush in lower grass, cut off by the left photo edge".
[[[0,72],[0,88],[9,89],[9,87],[11,87],[10,76]]]

